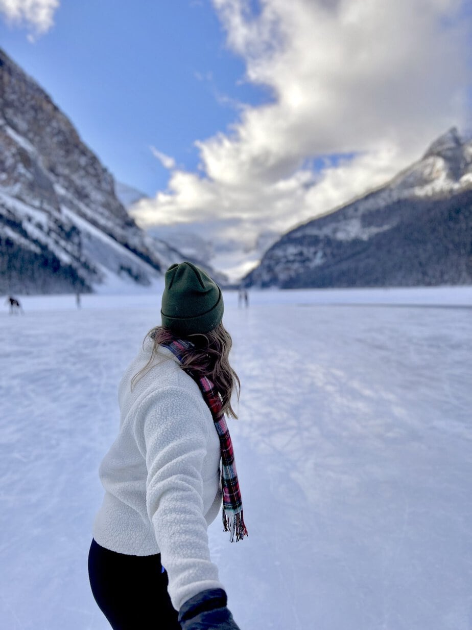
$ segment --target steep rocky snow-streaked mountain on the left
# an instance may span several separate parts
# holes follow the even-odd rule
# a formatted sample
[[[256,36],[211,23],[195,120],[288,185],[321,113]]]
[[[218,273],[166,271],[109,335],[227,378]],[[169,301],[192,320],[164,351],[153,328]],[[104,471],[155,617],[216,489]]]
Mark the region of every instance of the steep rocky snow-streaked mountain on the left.
[[[146,286],[184,260],[135,224],[115,186],[70,120],[0,49],[0,292]]]

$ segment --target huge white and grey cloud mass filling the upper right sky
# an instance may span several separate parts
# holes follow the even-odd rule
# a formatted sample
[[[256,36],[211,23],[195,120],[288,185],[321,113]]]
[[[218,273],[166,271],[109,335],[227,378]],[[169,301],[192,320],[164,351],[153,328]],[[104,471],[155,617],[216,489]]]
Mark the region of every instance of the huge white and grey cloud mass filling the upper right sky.
[[[137,208],[142,224],[199,221],[249,243],[380,185],[465,123],[459,0],[262,0],[257,16],[249,1],[213,4],[245,79],[273,102],[240,108],[229,133],[197,142],[201,173],[172,171],[167,192]],[[352,153],[321,173],[306,166]]]

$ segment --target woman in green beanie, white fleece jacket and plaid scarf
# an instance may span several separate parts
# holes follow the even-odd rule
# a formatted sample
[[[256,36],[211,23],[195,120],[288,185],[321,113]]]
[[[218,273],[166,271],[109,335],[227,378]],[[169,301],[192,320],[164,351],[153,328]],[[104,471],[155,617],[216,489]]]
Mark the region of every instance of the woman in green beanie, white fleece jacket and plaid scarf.
[[[89,552],[91,589],[114,630],[239,630],[207,536],[221,508],[230,540],[247,536],[225,418],[237,417],[239,379],[223,308],[203,270],[171,265],[162,325],[118,387],[120,428],[99,469]]]

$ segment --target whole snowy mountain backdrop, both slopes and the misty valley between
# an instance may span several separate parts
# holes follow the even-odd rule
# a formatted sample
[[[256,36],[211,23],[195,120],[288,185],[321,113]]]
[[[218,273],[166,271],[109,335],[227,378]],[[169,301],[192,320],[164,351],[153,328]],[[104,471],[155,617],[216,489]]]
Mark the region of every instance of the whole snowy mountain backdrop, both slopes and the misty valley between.
[[[0,293],[130,292],[184,259],[223,285],[472,283],[472,140],[456,129],[384,186],[281,237],[215,219],[212,240],[204,222],[138,227],[142,193],[113,180],[1,50],[0,79]]]

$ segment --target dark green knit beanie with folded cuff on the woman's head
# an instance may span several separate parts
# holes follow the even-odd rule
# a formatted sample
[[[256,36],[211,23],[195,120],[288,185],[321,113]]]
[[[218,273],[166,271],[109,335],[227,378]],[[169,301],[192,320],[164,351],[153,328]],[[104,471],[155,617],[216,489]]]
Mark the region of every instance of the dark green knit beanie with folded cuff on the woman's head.
[[[208,333],[223,318],[223,295],[210,276],[192,263],[171,265],[162,294],[162,326],[180,335]]]

